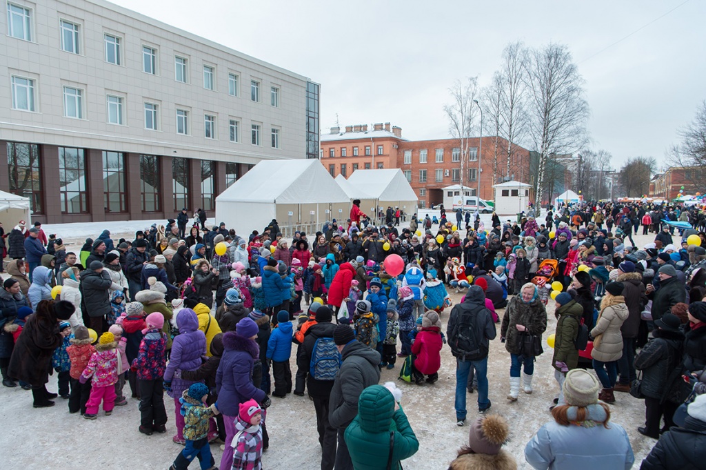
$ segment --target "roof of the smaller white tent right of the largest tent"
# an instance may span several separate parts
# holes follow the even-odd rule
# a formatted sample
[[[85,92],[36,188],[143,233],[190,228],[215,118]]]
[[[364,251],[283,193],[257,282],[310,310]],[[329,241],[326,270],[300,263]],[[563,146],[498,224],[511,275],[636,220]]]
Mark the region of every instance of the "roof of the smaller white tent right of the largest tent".
[[[379,201],[417,201],[414,192],[402,170],[355,170],[348,177],[347,183],[364,196],[359,199],[378,199]]]

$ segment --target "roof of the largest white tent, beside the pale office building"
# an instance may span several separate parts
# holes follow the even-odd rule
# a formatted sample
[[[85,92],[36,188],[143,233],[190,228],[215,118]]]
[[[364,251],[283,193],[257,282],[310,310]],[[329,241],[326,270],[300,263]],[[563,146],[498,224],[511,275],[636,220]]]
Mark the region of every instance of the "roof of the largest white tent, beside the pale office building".
[[[272,204],[316,204],[349,202],[319,160],[263,160],[216,202],[263,202]]]

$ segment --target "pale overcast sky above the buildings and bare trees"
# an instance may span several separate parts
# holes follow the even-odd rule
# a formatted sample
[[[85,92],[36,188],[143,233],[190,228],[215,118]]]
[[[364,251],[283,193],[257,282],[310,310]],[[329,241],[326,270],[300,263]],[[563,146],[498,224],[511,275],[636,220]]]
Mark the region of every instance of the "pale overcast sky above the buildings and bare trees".
[[[467,76],[486,85],[515,40],[568,45],[585,78],[590,148],[616,168],[637,155],[662,165],[706,99],[701,0],[659,20],[683,0],[114,3],[321,83],[323,133],[337,120],[390,122],[407,139],[447,138],[448,88]]]

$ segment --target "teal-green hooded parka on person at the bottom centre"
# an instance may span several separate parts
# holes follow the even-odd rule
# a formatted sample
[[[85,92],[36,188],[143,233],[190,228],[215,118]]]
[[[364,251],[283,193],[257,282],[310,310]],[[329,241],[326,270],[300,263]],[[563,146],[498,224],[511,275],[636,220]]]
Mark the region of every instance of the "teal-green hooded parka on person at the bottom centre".
[[[388,467],[391,432],[395,435],[393,464]],[[401,460],[419,449],[405,412],[401,408],[395,411],[393,394],[382,385],[371,385],[360,394],[358,415],[344,437],[356,470],[397,470]]]

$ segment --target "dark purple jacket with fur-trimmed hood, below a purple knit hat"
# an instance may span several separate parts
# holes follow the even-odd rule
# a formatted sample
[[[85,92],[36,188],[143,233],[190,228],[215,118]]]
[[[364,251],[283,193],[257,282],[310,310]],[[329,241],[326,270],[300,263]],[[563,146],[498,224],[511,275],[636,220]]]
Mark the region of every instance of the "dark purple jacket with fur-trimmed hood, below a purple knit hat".
[[[265,399],[265,392],[253,385],[253,361],[260,348],[255,341],[234,331],[223,335],[223,357],[216,372],[218,408],[225,416],[238,416],[239,404]]]

